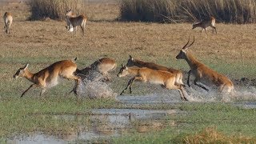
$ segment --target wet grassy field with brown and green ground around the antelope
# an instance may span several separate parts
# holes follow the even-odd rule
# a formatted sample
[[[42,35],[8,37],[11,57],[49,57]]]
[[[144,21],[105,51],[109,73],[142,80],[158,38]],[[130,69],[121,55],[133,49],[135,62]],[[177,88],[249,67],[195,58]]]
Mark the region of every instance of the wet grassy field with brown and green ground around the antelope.
[[[218,34],[201,34],[190,23],[120,22],[119,2],[86,1],[85,37],[74,36],[65,21],[28,21],[26,2],[0,2],[0,15],[14,16],[10,34],[0,22],[0,143],[255,143],[256,24],[216,23]],[[134,82],[133,93],[119,95],[130,77],[118,78],[129,55],[182,70],[175,56],[189,37],[199,61],[234,82],[237,97],[221,102],[210,92],[186,86],[190,102],[177,90]],[[74,82],[63,80],[46,93],[30,90],[26,78],[14,79],[29,63],[31,72],[77,57],[78,68],[99,58],[114,58],[117,69],[106,82],[116,98],[76,98]],[[193,78],[193,77],[192,77]],[[191,82],[192,83],[192,78]]]

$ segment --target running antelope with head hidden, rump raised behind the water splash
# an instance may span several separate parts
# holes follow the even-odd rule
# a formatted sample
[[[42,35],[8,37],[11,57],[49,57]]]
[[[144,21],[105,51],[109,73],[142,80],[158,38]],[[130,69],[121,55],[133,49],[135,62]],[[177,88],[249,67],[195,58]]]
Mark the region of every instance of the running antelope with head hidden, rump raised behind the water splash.
[[[79,75],[88,75],[91,72],[97,71],[98,73],[102,74],[106,77],[106,80],[110,80],[110,76],[108,74],[109,71],[114,70],[117,67],[116,62],[112,58],[101,58],[92,63],[90,66],[79,70],[76,70],[76,74]]]

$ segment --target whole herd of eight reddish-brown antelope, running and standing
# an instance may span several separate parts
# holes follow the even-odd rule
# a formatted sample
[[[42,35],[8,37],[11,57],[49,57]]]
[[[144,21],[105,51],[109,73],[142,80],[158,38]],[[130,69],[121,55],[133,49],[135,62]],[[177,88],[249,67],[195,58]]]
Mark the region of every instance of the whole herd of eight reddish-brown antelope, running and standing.
[[[10,34],[10,26],[13,22],[13,17],[10,13],[6,12],[3,16],[5,23],[5,31],[6,34]],[[80,26],[82,29],[82,36],[84,36],[84,30],[86,26],[86,16],[79,15],[76,16],[71,10],[66,10],[66,29],[70,32],[74,31],[76,34],[77,26]],[[201,27],[202,30],[206,31],[207,27],[211,27],[213,29],[213,34],[217,34],[217,30],[215,27],[215,18],[210,17],[208,21],[202,21],[193,24],[193,28]],[[222,94],[230,94],[234,95],[234,85],[226,76],[219,74],[218,72],[211,70],[208,66],[204,65],[202,62],[199,62],[196,58],[194,58],[193,54],[190,53],[189,48],[194,44],[190,43],[190,38],[186,45],[182,47],[179,54],[176,56],[177,59],[184,59],[190,66],[190,70],[188,72],[187,85],[190,87],[190,74],[194,75],[194,85],[201,87],[203,90],[209,91],[206,86],[214,85],[219,88],[219,91]],[[189,46],[188,46],[189,45]],[[54,62],[52,65],[46,67],[43,70],[40,70],[38,73],[31,73],[28,70],[28,64],[26,66],[18,69],[16,74],[14,74],[14,78],[23,77],[28,79],[33,84],[26,89],[21,97],[26,94],[28,90],[32,87],[39,87],[42,89],[42,95],[47,88],[52,86],[56,86],[61,78],[71,79],[75,81],[75,85],[78,85],[78,82],[82,82],[81,74],[86,75],[90,70],[96,70],[102,75],[108,75],[110,70],[114,70],[117,67],[116,62],[112,58],[101,58],[94,62],[89,67],[86,67],[83,70],[79,70],[75,63],[76,58],[71,60],[62,60],[59,62]],[[79,75],[80,74],[80,75]],[[175,70],[174,68],[160,66],[154,62],[143,62],[142,60],[138,60],[130,56],[126,65],[122,65],[121,69],[118,72],[118,77],[125,77],[127,75],[133,75],[124,90],[122,90],[122,95],[125,90],[130,89],[130,93],[132,93],[131,86],[134,81],[139,82],[149,82],[152,84],[158,84],[163,88],[170,90],[178,90],[180,97],[184,101],[188,101],[186,98],[186,92],[184,87],[186,85],[182,82],[183,74],[181,70]],[[109,75],[107,79],[110,79]],[[204,86],[204,85],[206,86]],[[74,86],[75,89],[76,86]],[[75,90],[74,91],[75,93]]]

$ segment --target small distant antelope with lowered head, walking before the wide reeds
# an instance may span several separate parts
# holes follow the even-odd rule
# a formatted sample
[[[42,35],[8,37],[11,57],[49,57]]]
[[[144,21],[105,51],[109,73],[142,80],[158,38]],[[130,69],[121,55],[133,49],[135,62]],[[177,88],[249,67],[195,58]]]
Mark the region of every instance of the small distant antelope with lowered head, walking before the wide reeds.
[[[215,33],[217,34],[217,30],[216,30],[216,27],[215,27],[215,18],[214,17],[210,17],[210,20],[203,20],[201,22],[193,24],[192,30],[194,28],[196,28],[196,27],[201,27],[202,30],[206,31],[206,34],[207,34],[206,28],[207,27],[211,27],[211,28],[213,28],[213,34],[214,34],[214,30],[215,30]],[[201,33],[202,33],[202,31],[201,31]]]

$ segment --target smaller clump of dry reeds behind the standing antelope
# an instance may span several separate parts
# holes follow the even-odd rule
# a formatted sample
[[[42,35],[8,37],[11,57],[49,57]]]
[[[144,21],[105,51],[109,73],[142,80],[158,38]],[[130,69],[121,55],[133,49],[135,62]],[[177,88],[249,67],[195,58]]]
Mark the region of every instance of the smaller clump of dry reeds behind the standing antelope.
[[[67,9],[72,9],[74,14],[83,13],[82,0],[31,0],[31,20],[43,18],[65,20]]]

